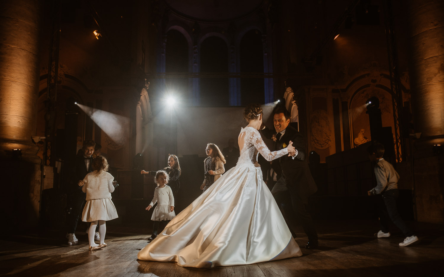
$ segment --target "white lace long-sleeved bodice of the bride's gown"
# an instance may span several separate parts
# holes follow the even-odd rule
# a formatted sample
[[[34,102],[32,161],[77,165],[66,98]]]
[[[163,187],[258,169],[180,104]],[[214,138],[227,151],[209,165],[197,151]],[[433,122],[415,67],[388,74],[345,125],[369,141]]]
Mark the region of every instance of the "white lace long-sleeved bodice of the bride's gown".
[[[245,134],[242,135],[244,132]],[[242,128],[239,137],[241,138],[239,142],[242,141],[243,137],[244,143],[241,147],[238,165],[255,164],[257,162],[258,152],[261,153],[261,155],[268,161],[288,154],[287,148],[271,152],[262,140],[258,130],[254,129],[253,127]],[[240,143],[239,146],[241,146]]]

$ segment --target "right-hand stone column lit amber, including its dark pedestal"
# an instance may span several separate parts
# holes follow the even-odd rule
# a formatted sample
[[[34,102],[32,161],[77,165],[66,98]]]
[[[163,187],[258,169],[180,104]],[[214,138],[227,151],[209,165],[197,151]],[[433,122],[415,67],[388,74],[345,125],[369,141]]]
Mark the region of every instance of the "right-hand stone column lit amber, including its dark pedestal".
[[[416,133],[414,174],[418,221],[444,222],[444,0],[409,0],[410,87]]]

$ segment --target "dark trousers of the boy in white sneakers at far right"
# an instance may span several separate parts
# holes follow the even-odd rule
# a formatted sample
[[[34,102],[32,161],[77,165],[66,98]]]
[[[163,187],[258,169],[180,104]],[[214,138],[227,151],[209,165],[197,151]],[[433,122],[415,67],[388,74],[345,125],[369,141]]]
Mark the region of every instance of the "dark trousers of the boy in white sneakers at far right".
[[[405,237],[414,235],[413,231],[405,224],[404,220],[398,213],[396,207],[396,199],[398,199],[399,190],[397,188],[391,189],[381,193],[381,200],[379,203],[379,223],[381,231],[389,232],[389,223],[392,221],[398,227]]]

